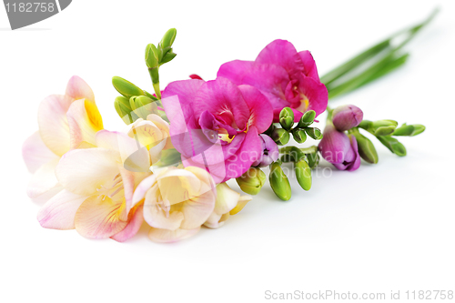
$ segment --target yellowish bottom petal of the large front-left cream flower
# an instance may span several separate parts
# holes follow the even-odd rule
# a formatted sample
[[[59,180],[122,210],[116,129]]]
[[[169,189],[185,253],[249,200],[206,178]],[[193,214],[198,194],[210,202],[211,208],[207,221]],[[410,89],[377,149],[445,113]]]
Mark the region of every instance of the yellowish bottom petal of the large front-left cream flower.
[[[88,197],[76,211],[76,230],[84,237],[112,237],[126,227],[127,222],[120,220],[124,211],[123,199],[114,200],[104,195]]]

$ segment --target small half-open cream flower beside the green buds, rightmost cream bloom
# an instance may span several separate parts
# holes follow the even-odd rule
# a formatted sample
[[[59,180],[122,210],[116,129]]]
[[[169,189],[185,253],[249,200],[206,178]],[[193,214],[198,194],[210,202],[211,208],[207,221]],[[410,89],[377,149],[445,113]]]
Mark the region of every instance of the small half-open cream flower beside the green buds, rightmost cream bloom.
[[[237,191],[232,190],[226,183],[218,184],[215,209],[210,217],[207,218],[204,226],[209,228],[223,226],[230,215],[237,214],[251,199],[252,197],[246,195],[240,196]]]

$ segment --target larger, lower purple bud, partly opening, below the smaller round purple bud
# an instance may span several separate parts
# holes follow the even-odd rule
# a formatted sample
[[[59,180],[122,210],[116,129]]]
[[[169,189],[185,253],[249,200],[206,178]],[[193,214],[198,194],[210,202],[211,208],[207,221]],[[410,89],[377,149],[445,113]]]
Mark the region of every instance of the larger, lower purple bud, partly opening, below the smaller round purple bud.
[[[320,140],[319,151],[322,157],[339,170],[356,170],[360,167],[359,147],[354,136],[339,132],[328,123],[324,137]]]

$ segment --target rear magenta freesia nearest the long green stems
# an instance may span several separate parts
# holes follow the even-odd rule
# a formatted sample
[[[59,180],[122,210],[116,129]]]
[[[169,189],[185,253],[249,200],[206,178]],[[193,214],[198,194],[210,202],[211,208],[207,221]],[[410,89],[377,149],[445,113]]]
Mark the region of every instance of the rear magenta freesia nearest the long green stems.
[[[283,107],[291,107],[297,122],[312,109],[316,116],[326,110],[329,95],[318,75],[309,51],[297,52],[286,40],[267,45],[255,61],[230,61],[222,65],[217,76],[224,76],[237,85],[257,87],[273,106],[274,122]]]

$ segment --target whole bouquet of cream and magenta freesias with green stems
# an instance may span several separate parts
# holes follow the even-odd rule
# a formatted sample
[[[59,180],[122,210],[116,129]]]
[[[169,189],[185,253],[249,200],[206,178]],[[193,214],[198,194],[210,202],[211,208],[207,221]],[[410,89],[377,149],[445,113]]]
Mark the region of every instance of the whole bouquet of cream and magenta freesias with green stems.
[[[406,156],[397,137],[419,135],[425,126],[369,121],[357,106],[329,108],[328,102],[402,66],[408,57],[400,53],[402,47],[433,15],[326,76],[319,77],[309,51],[275,40],[254,61],[220,66],[215,80],[191,75],[161,90],[160,67],[177,56],[172,48],[177,31],[170,29],[159,44],[146,48],[153,92],[118,76],[112,79],[125,132],[104,129],[94,93],[73,76],[64,95],[42,101],[39,131],[23,146],[34,174],[27,194],[46,200],[39,223],[125,241],[145,220],[150,239],[173,242],[201,227],[220,227],[236,215],[251,200],[248,195],[257,195],[266,184],[263,167],[269,167],[273,192],[288,200],[289,175],[309,190],[319,155],[339,170],[356,170],[361,159],[378,163],[373,142],[362,132]],[[324,112],[327,123],[321,131],[317,123]],[[299,146],[308,137],[319,144]],[[233,178],[248,195],[227,186]]]

